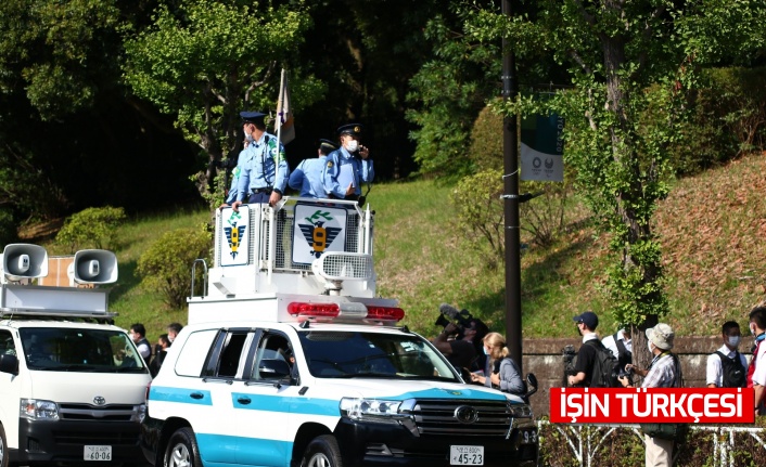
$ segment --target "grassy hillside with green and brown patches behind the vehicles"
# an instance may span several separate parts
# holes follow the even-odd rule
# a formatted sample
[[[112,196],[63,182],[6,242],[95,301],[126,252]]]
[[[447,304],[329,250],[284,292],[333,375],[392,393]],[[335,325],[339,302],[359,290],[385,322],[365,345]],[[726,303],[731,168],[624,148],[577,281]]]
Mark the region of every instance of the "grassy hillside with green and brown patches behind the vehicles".
[[[750,308],[766,297],[766,155],[679,180],[660,206],[656,232],[672,314],[679,334],[717,334],[725,320],[746,324]],[[438,306],[467,308],[496,330],[503,330],[505,272],[487,270],[454,230],[451,187],[433,181],[375,185],[369,199],[376,211],[378,291],[397,297],[405,324],[423,335],[438,332]],[[469,200],[467,200],[469,202]],[[535,199],[532,203],[539,202]],[[607,238],[574,222],[554,245],[528,248],[522,256],[522,310],[525,337],[574,336],[571,316],[596,311],[604,332],[614,327],[600,286],[610,261]],[[579,217],[579,218],[578,218]],[[142,322],[152,340],[165,325],[186,322],[186,310],[167,310],[135,274],[136,264],[159,234],[208,220],[206,211],[174,212],[130,220],[118,233],[119,284],[112,294],[117,324]],[[522,222],[524,220],[522,219]],[[48,245],[51,254],[55,247]],[[745,327],[746,328],[746,327]]]

